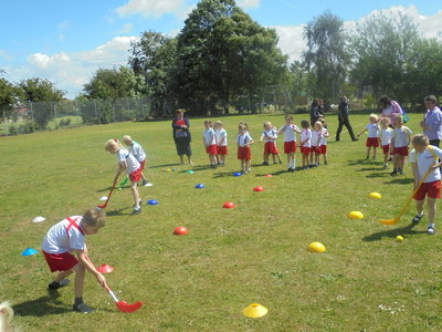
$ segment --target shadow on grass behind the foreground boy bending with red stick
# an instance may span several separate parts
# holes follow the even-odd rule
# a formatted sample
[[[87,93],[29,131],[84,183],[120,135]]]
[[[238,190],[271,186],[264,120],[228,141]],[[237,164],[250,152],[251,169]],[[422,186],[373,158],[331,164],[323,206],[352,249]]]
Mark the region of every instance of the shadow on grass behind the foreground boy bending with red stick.
[[[71,312],[72,308],[56,300],[60,297],[56,291],[49,291],[48,295],[35,300],[25,301],[12,307],[17,315],[27,317],[43,317],[46,314],[61,314]]]

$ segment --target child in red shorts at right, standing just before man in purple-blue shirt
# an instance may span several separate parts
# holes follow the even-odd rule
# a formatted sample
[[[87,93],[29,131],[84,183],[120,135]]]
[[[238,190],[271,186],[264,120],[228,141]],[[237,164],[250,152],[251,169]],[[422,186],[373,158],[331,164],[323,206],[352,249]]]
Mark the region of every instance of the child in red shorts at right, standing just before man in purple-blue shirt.
[[[408,147],[411,142],[411,129],[403,125],[402,115],[397,114],[394,116],[394,131],[391,137],[391,148],[393,153],[393,172],[390,174],[394,176],[397,174],[403,175],[403,164],[408,156]]]

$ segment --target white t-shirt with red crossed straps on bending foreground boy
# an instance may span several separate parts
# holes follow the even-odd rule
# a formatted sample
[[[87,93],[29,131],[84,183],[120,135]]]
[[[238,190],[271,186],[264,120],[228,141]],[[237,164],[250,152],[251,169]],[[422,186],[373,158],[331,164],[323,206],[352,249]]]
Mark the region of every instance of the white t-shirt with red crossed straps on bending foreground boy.
[[[73,219],[75,224],[80,226],[83,217],[72,216],[71,219]],[[65,253],[74,250],[83,250],[84,236],[74,226],[71,226],[67,235],[66,229],[70,224],[71,222],[67,219],[63,219],[62,221],[52,226],[44,237],[42,249],[48,253]]]

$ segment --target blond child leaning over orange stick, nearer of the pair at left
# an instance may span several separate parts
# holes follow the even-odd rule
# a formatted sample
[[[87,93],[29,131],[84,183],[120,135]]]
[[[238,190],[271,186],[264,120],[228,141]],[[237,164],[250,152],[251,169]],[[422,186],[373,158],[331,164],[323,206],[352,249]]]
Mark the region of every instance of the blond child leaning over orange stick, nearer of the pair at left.
[[[141,207],[139,206],[141,199],[139,198],[137,184],[141,179],[141,165],[139,165],[138,160],[126,149],[117,139],[109,139],[106,142],[105,149],[116,155],[118,160],[118,169],[115,177],[118,177],[123,170],[126,170],[126,174],[130,179],[130,191],[134,197],[134,210],[133,215],[138,215],[141,212]]]

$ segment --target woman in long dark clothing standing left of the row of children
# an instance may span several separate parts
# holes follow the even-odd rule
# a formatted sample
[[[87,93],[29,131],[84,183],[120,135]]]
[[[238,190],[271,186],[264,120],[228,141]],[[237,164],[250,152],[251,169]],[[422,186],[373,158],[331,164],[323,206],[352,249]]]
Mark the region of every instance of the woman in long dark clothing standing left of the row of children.
[[[192,137],[190,135],[189,127],[190,124],[185,117],[185,110],[177,110],[177,117],[172,120],[172,134],[181,165],[185,164],[185,155],[187,155],[189,164],[193,165],[191,159],[192,149],[190,148],[190,142],[192,141]]]

